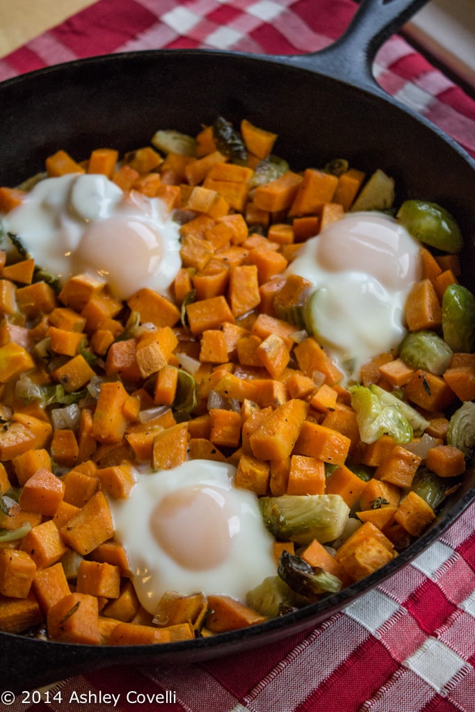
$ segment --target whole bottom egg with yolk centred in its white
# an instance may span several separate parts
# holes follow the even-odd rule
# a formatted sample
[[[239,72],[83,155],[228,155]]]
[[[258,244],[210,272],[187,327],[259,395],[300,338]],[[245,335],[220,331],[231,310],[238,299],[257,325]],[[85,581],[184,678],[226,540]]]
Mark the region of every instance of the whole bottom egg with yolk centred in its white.
[[[142,606],[154,613],[162,595],[202,592],[246,601],[276,575],[273,538],[256,495],[234,487],[236,468],[192,460],[167,471],[137,471],[132,493],[110,501]]]

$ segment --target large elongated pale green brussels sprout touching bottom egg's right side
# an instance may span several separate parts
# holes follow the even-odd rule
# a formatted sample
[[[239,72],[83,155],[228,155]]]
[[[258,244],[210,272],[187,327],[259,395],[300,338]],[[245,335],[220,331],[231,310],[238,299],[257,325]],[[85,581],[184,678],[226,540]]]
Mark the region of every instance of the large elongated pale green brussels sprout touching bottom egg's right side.
[[[259,506],[273,538],[298,544],[333,541],[343,532],[350,513],[338,494],[261,497]]]

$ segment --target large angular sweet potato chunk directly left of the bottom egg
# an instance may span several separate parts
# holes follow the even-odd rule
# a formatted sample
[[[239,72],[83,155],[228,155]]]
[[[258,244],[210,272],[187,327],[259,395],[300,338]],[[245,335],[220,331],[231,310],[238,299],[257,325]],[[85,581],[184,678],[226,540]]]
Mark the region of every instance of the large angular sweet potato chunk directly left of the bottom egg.
[[[101,491],[96,492],[78,514],[61,527],[63,541],[83,556],[110,539],[113,533],[113,518],[107,498]]]

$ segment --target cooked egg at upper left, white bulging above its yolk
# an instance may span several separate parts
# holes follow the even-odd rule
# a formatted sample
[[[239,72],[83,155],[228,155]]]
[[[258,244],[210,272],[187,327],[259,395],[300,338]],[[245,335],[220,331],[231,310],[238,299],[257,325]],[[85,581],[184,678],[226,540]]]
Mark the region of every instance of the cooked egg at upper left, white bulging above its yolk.
[[[179,226],[163,202],[124,194],[99,174],[41,180],[4,217],[4,229],[61,283],[89,273],[121,300],[144,287],[166,293],[181,266]]]

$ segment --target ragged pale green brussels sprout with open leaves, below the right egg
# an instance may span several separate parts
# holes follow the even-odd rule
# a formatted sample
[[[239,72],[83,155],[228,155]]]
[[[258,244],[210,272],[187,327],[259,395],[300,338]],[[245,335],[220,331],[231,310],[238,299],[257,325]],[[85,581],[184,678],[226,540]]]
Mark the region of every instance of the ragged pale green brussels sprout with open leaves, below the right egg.
[[[402,413],[399,403],[385,404],[365,386],[352,386],[350,393],[360,438],[364,443],[375,442],[382,435],[392,436],[398,444],[412,440],[412,427]]]

